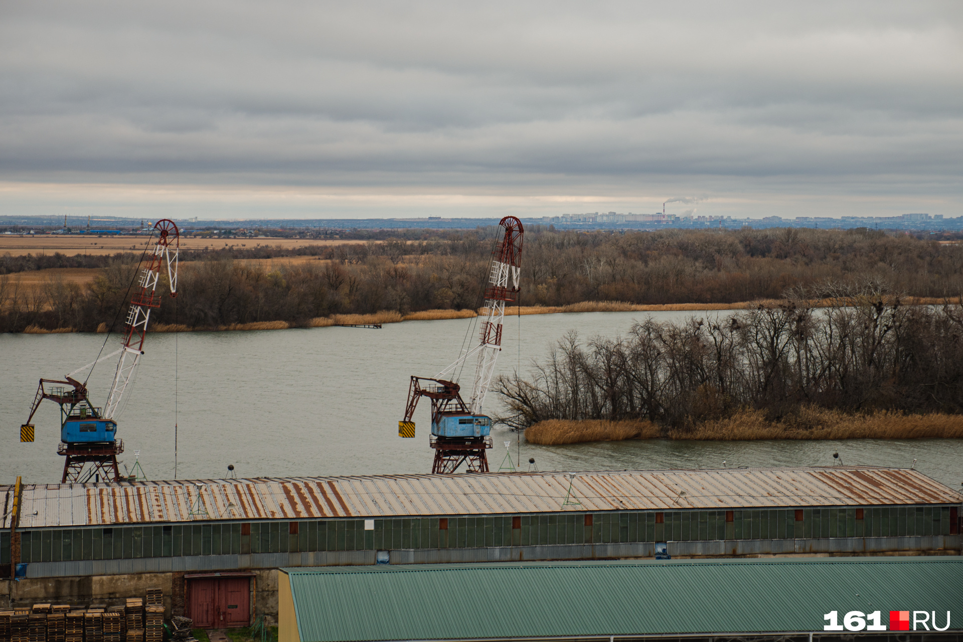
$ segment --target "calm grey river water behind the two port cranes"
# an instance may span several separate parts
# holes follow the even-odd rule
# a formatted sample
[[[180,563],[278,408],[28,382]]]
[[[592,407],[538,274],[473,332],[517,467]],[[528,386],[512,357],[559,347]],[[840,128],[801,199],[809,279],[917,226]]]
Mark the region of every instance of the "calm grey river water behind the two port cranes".
[[[521,366],[569,330],[588,338],[625,334],[649,313],[584,313],[508,318],[497,373]],[[658,321],[690,312],[651,313]],[[718,314],[718,313],[709,313]],[[724,313],[722,313],[724,314]],[[415,416],[415,439],[398,437],[411,374],[434,376],[455,360],[474,320],[406,321],[380,330],[326,327],[261,332],[151,334],[144,344],[137,380],[117,414],[123,464],[135,450],[150,479],[221,478],[233,464],[238,476],[376,475],[427,473],[429,404]],[[64,458],[59,410],[44,401],[35,417],[37,441],[18,442],[39,377],[62,378],[90,363],[104,335],[0,335],[0,483],[22,475],[27,483],[60,481]],[[112,335],[104,353],[117,348]],[[89,388],[105,401],[113,359],[96,367]],[[176,367],[175,367],[176,366]],[[464,387],[470,388],[466,369]],[[176,395],[175,395],[176,372]],[[500,409],[497,395],[485,401]],[[846,440],[678,442],[668,440],[534,446],[496,427],[489,465],[498,470],[510,443],[511,458],[542,471],[603,469],[810,466],[834,463],[913,465],[954,488],[963,481],[963,440]],[[508,465],[508,462],[505,462]],[[123,468],[123,465],[121,466]]]

